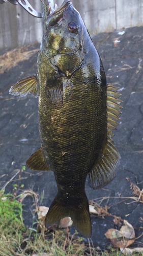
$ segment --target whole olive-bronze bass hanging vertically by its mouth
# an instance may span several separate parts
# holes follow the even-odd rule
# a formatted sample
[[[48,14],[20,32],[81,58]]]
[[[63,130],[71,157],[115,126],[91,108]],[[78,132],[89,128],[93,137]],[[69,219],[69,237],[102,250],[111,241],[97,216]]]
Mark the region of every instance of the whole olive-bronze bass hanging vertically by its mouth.
[[[52,170],[58,186],[45,226],[71,217],[91,237],[85,180],[93,189],[116,176],[120,154],[111,137],[121,113],[116,87],[107,85],[100,56],[80,14],[70,1],[51,13],[42,0],[43,39],[37,74],[18,81],[13,95],[39,97],[41,147],[26,164]]]

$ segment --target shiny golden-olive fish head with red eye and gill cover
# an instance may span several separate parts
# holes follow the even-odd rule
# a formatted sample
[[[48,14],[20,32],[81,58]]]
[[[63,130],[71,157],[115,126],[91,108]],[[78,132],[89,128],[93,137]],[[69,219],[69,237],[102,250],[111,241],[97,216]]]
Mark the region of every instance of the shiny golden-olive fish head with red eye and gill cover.
[[[52,13],[48,8],[45,12],[44,53],[50,56],[52,65],[58,67],[61,73],[71,76],[82,65],[85,25],[78,11],[68,0]]]

